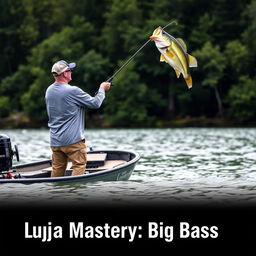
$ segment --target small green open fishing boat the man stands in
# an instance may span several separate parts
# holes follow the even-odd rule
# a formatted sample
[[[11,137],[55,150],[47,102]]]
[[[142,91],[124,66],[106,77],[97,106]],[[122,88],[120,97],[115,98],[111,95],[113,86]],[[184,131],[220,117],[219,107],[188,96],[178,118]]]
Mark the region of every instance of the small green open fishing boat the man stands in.
[[[51,177],[52,161],[43,160],[34,163],[12,166],[0,175],[1,183],[69,183],[128,180],[140,159],[133,151],[97,150],[87,152],[87,165],[84,174],[72,176],[72,163],[68,162],[65,176]]]

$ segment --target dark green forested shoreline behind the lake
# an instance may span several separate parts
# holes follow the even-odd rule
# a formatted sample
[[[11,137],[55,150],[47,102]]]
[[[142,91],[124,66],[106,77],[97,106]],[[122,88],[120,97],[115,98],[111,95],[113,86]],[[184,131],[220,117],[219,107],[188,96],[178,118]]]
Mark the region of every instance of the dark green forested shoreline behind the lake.
[[[113,80],[94,127],[254,125],[256,0],[0,0],[0,125],[47,126],[57,60],[76,62],[72,85],[91,95],[157,26],[182,38],[198,67],[193,87],[159,61],[153,42]]]

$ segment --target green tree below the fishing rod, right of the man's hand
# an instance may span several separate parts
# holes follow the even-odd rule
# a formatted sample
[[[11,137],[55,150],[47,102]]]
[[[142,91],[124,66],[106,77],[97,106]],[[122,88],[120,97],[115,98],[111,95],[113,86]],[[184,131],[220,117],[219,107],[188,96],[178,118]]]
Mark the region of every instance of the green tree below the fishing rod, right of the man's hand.
[[[151,93],[131,63],[115,80],[105,101],[106,122],[115,126],[151,125],[147,106]]]

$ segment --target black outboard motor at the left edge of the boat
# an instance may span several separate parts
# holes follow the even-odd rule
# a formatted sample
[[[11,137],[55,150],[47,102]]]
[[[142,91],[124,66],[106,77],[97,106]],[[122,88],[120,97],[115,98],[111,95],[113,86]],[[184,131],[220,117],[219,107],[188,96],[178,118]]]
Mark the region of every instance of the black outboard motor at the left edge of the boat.
[[[13,156],[16,156],[19,161],[18,147],[14,146],[15,150],[12,149],[11,140],[5,134],[0,134],[0,173],[8,172],[12,167]]]

